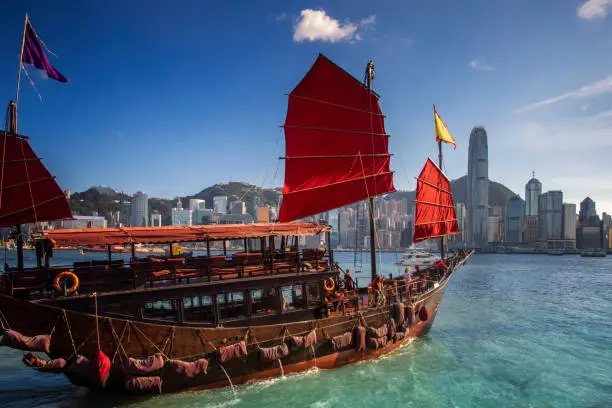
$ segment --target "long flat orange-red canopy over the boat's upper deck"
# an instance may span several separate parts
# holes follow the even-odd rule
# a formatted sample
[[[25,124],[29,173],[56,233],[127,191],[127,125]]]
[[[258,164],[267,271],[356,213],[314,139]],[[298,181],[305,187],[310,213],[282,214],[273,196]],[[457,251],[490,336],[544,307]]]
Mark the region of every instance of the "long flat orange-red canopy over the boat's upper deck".
[[[309,222],[216,224],[168,227],[83,228],[50,230],[44,238],[55,246],[163,244],[226,239],[316,235],[330,231],[327,225]]]

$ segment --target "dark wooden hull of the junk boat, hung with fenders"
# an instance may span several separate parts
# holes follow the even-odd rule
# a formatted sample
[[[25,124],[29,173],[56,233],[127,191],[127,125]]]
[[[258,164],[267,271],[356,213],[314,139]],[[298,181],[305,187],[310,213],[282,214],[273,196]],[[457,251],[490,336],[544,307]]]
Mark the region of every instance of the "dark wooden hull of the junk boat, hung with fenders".
[[[455,270],[468,257],[462,260]],[[75,355],[91,358],[99,349],[104,351],[112,360],[106,389],[124,388],[126,376],[123,374],[122,361],[128,357],[143,359],[162,353],[166,359],[208,359],[207,373],[189,380],[177,381],[176,378],[170,378],[166,376],[165,368],[148,374],[161,378],[163,392],[177,392],[243,384],[312,368],[333,369],[388,354],[410,339],[429,332],[451,276],[452,273],[448,274],[437,287],[424,293],[411,305],[413,310],[426,307],[426,320],[420,321],[415,317],[404,338],[389,340],[385,347],[366,348],[364,351],[358,351],[352,346],[334,349],[331,338],[352,331],[356,325],[373,328],[387,325],[390,317],[388,307],[361,309],[358,313],[292,323],[201,328],[104,316],[96,318],[91,314],[0,295],[0,317],[8,323],[10,329],[27,336],[53,333],[49,352],[53,359],[64,358],[70,363]],[[316,330],[317,337],[313,347],[291,347],[289,354],[280,360],[262,361],[260,358],[260,346],[273,347],[283,342],[289,343],[287,336],[305,335],[312,330]],[[220,363],[215,345],[231,345],[241,340],[247,343],[248,355]]]

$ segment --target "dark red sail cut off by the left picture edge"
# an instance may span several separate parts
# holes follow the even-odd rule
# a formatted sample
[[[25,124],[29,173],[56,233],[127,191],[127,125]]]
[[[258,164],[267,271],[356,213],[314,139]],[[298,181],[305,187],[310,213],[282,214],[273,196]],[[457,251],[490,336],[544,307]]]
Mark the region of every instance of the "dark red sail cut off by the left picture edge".
[[[0,133],[0,227],[72,218],[66,196],[28,139]]]

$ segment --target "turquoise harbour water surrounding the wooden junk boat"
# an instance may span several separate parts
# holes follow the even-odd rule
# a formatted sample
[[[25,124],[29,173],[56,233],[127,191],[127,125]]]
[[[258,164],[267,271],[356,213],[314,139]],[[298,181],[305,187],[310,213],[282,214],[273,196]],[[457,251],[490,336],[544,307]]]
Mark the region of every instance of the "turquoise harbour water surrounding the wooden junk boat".
[[[338,259],[352,267],[352,256]],[[385,273],[396,259],[383,254]],[[233,390],[108,396],[20,359],[0,349],[1,407],[610,407],[612,257],[475,255],[426,338],[377,361]]]

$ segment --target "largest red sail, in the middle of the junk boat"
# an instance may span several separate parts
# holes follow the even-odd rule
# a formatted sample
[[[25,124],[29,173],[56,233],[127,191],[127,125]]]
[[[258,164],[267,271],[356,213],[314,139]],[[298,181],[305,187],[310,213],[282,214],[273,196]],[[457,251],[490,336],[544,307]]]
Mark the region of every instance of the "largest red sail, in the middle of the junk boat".
[[[279,220],[395,191],[378,96],[323,55],[289,94]]]

